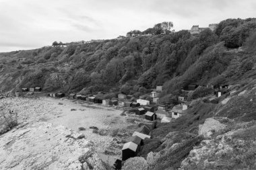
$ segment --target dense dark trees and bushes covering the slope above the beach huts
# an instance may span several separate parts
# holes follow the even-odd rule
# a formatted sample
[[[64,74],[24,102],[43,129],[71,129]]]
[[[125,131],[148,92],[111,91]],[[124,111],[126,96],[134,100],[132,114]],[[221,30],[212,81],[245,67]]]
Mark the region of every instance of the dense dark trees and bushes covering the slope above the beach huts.
[[[179,93],[184,85],[235,81],[252,69],[255,58],[234,56],[228,48],[246,46],[246,42],[252,45],[249,41],[253,36],[247,39],[255,28],[256,19],[226,19],[215,32],[207,29],[197,35],[186,30],[158,34],[157,24],[150,37],[71,43],[67,47],[55,42],[54,46],[36,50],[1,53],[1,90],[39,86],[44,91],[139,96],[164,84],[162,101],[170,103],[170,93]],[[242,63],[234,63],[237,60]]]

